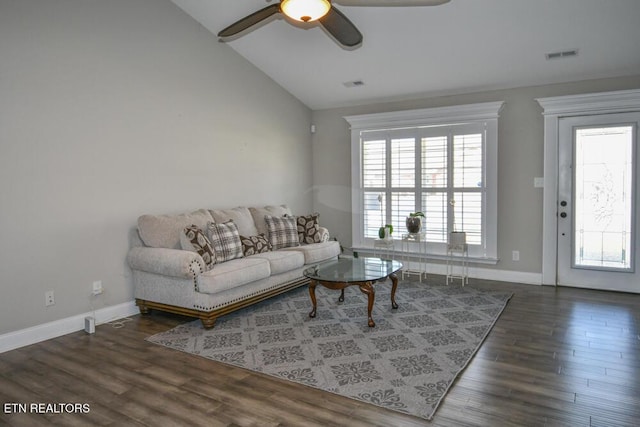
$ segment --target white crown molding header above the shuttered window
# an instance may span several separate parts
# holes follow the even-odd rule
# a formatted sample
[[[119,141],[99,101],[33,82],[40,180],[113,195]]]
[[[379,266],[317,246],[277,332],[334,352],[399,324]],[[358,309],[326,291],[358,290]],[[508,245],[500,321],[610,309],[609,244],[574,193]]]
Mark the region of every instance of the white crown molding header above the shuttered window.
[[[345,116],[351,130],[376,130],[497,119],[504,101]]]

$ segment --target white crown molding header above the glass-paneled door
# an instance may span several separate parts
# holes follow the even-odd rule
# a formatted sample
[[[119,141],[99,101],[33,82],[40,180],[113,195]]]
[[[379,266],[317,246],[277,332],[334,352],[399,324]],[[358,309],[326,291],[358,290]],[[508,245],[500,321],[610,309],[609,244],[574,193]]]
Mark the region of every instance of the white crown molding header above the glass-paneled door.
[[[538,98],[545,116],[584,116],[640,111],[640,89]]]

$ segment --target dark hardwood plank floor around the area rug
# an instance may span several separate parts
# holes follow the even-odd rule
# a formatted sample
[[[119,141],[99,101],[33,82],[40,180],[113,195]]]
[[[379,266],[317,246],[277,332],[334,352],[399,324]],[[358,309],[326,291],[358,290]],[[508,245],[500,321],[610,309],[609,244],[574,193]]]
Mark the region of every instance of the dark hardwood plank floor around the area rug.
[[[0,424],[640,425],[640,295],[469,286],[514,296],[431,422],[150,344],[147,336],[190,320],[154,312],[0,354]],[[7,403],[90,410],[6,413]]]

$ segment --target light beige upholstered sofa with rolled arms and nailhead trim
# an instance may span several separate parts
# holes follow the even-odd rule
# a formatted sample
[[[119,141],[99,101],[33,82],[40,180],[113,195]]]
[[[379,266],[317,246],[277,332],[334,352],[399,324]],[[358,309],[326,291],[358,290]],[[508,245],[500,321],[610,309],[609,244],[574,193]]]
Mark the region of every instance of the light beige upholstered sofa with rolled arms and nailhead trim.
[[[320,227],[318,243],[282,248],[214,264],[207,270],[197,252],[184,250],[185,227],[205,230],[209,222],[233,220],[240,235],[268,238],[265,215],[291,215],[288,207],[201,209],[180,215],[142,215],[127,261],[133,271],[134,296],[142,314],[150,309],[197,317],[213,328],[218,316],[308,283],[302,271],[340,253]]]

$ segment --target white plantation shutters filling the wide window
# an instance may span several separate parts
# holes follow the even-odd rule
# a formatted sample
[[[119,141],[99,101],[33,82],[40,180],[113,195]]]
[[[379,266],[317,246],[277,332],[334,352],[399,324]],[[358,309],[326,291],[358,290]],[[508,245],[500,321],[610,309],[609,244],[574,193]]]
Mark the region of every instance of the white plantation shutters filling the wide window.
[[[450,231],[466,231],[469,244],[482,243],[483,132],[468,128],[414,129],[413,137],[402,129],[401,137],[386,131],[384,139],[372,133],[363,141],[365,237],[377,237],[385,224],[398,236],[409,213],[422,211],[428,242],[446,243]]]

